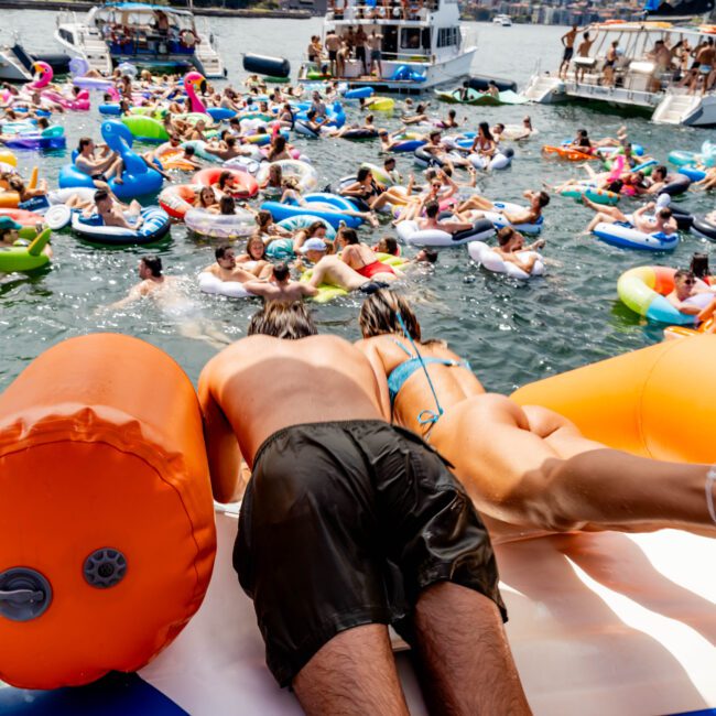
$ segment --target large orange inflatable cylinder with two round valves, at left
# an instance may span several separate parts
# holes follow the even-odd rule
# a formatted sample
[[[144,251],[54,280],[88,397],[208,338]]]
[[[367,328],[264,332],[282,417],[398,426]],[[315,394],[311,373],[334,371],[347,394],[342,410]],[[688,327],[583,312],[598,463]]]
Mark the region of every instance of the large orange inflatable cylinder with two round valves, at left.
[[[194,388],[153,346],[72,338],[0,395],[0,680],[135,671],[198,609],[214,503]]]

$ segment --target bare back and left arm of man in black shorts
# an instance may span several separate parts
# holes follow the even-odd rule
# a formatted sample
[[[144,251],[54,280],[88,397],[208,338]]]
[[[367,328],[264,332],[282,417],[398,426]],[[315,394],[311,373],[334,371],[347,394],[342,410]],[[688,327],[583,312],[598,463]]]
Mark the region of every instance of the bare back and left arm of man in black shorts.
[[[306,369],[315,381],[306,381]],[[215,495],[231,497],[241,455],[253,465],[267,437],[289,425],[382,420],[380,389],[366,357],[336,336],[281,340],[250,336],[199,376]],[[228,457],[234,454],[234,458]]]

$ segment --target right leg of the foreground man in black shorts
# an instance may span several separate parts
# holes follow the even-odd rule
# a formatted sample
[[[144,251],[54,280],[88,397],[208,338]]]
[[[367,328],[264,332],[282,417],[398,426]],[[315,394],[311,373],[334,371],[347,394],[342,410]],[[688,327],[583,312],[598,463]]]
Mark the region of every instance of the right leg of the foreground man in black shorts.
[[[434,584],[417,599],[415,631],[431,713],[532,713],[491,599],[449,582]]]

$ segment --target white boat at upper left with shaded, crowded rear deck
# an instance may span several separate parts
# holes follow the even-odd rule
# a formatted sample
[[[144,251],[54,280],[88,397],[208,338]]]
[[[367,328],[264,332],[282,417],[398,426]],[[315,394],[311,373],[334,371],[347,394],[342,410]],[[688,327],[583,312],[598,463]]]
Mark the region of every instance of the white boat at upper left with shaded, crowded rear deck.
[[[184,72],[191,67],[205,77],[226,76],[208,26],[199,32],[189,11],[167,6],[97,6],[82,19],[75,11],[61,11],[55,39],[105,75],[126,62],[161,72]]]

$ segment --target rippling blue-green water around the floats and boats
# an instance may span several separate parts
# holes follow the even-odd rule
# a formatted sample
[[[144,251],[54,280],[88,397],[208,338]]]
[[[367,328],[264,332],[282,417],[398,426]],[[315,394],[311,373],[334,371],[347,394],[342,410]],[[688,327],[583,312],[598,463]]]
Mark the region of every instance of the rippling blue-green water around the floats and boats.
[[[55,50],[48,40],[54,31],[54,13],[6,11],[3,19],[6,28],[22,29],[22,40],[30,48]],[[216,19],[213,24],[220,37],[229,78],[236,80],[243,77],[241,52],[286,56],[297,68],[307,40],[319,30],[321,21]],[[511,77],[521,85],[538,57],[542,67],[558,63],[562,28],[470,23],[470,29],[478,35],[476,73]],[[436,105],[434,109],[446,111],[445,106]],[[465,107],[458,111],[468,117],[468,128],[475,129],[482,119],[490,123],[519,122],[525,108]],[[491,198],[519,200],[524,188],[575,175],[575,166],[544,161],[541,144],[558,142],[579,127],[588,128],[595,137],[614,135],[623,121],[616,113],[583,107],[534,106],[527,111],[540,137],[519,149],[512,169],[481,180],[481,188]],[[61,121],[70,145],[85,133],[98,137],[99,116],[95,111],[70,115]],[[704,131],[657,127],[646,119],[626,121],[631,138],[661,159],[672,149],[696,149],[708,135]],[[390,117],[381,118],[379,123],[398,126]],[[359,161],[375,161],[378,156],[375,144],[307,143],[301,139],[296,143],[305,147],[324,183],[351,173]],[[51,185],[56,184],[59,167],[68,161],[63,155],[41,158],[31,153],[19,158],[26,169],[40,164]],[[400,155],[399,169],[403,174],[412,171],[410,158]],[[714,200],[703,194],[690,196],[682,204],[697,213],[714,208]],[[405,286],[415,299],[424,335],[447,339],[492,390],[507,392],[524,382],[660,340],[659,327],[646,325],[618,302],[619,274],[644,263],[685,265],[694,251],[712,251],[710,243],[691,236],[683,238],[672,256],[607,247],[593,237],[579,236],[590,211],[562,197],[553,197],[545,216],[549,272],[544,279],[518,283],[489,274],[470,262],[463,247],[443,251],[433,273],[413,278]],[[364,231],[367,239],[377,239],[383,232],[391,234],[391,229],[386,227],[373,236]],[[197,321],[210,321],[227,336],[241,337],[248,317],[258,306],[254,302],[217,300],[198,293],[194,276],[211,263],[213,245],[188,235],[183,227],[173,228],[171,241],[152,249],[98,249],[70,234],[57,235],[53,241],[56,259],[52,270],[32,278],[0,279],[0,388],[52,344],[96,330],[116,330],[149,340],[169,351],[196,380],[214,349],[184,337],[176,318],[152,301],[122,312],[101,311],[137,281],[137,262],[145,253],[160,253],[169,274],[186,276],[185,291],[194,306],[189,313]],[[314,311],[323,330],[356,339],[358,307],[358,299],[346,299]],[[121,370],[121,366],[116,369]]]

